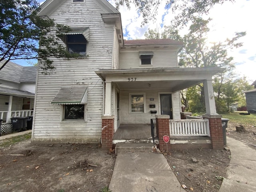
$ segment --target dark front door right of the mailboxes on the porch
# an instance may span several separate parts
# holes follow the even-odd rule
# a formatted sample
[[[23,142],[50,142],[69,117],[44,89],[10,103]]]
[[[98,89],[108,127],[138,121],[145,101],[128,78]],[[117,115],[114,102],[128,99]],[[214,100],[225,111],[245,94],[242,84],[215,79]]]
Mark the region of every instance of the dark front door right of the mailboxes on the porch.
[[[169,115],[172,119],[172,95],[160,94],[161,115]]]

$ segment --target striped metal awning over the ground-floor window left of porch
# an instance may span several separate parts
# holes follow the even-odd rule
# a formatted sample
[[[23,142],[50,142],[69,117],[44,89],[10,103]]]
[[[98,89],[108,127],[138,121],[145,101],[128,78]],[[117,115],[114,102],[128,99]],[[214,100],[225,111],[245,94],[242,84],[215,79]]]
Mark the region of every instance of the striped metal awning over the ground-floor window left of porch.
[[[86,104],[88,101],[88,87],[82,85],[63,86],[54,99],[53,105]]]

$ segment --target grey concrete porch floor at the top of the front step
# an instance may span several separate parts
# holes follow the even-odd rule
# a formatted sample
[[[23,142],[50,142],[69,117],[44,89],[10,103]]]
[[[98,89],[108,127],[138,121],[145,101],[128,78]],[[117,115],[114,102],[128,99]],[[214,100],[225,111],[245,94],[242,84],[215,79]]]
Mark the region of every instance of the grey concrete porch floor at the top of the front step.
[[[150,124],[120,124],[114,133],[114,140],[148,139],[151,138]]]

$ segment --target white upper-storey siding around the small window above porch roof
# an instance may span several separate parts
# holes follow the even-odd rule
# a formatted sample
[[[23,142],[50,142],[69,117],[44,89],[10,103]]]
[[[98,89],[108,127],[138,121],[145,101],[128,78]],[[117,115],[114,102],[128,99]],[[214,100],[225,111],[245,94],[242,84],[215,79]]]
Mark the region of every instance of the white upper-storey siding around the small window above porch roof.
[[[175,50],[156,49],[150,51],[154,52],[152,58],[152,65],[140,65],[140,51],[147,50],[128,50],[122,49],[120,51],[120,69],[132,68],[158,68],[158,67],[178,67],[177,52]]]

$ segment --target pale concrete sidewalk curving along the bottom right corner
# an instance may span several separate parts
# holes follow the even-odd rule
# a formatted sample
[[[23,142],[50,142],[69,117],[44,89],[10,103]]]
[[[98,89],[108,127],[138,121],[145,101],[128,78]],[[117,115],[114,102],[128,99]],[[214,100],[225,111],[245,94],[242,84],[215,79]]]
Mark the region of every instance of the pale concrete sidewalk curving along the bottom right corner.
[[[231,159],[219,192],[256,192],[256,148],[227,137]]]

